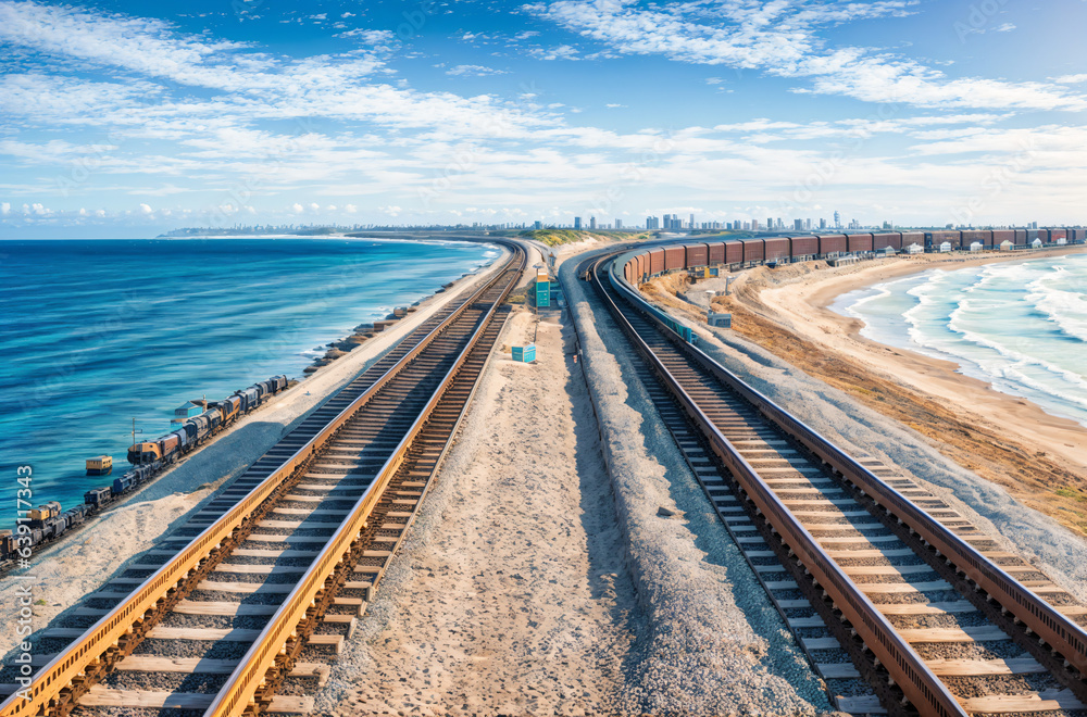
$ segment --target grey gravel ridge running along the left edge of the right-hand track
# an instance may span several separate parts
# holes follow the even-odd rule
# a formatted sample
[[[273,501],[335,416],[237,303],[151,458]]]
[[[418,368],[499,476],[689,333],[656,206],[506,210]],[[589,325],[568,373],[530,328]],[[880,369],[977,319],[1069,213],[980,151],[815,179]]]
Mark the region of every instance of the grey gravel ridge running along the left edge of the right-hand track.
[[[632,357],[619,351],[622,335],[607,314],[594,315],[576,264],[561,274],[649,631],[630,665],[626,710],[828,710],[821,681],[657,416]],[[676,515],[662,517],[660,507]]]

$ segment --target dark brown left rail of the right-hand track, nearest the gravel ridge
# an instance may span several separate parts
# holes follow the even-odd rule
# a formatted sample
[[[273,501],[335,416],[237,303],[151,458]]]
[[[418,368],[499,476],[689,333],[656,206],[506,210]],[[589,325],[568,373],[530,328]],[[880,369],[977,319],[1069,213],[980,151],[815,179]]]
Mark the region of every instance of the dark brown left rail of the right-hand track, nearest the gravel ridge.
[[[966,717],[967,713],[954,695],[948,691],[944,682],[928,669],[921,656],[902,639],[890,621],[857,587],[857,583],[838,567],[837,563],[792,515],[792,512],[744,458],[736,446],[717,429],[698,402],[687,393],[660,356],[630,325],[622,309],[604,288],[599,276],[600,265],[613,256],[607,256],[594,264],[592,277],[597,290],[620,326],[630,337],[638,352],[646,357],[684,411],[705,435],[711,450],[736,478],[748,500],[755,505],[782,540],[803,562],[804,567],[812,574],[816,586],[827,593],[834,604],[849,619],[858,637],[879,658],[907,699],[914,706],[923,708],[922,714],[939,717]],[[619,286],[611,268],[609,268],[608,275],[609,285],[615,290],[624,292],[625,298],[632,301],[632,305],[640,310],[645,300],[633,293],[632,290]],[[652,313],[642,313],[650,316],[651,320],[657,319]],[[663,323],[659,320],[658,323],[662,327],[664,326]],[[664,336],[669,336],[669,332],[665,331]]]

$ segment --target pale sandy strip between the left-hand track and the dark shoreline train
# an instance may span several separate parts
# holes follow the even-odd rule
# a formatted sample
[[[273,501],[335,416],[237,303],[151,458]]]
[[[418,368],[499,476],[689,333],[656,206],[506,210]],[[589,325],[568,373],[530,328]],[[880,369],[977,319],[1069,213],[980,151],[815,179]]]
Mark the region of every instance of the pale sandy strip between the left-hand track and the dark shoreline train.
[[[503,252],[496,261],[501,262],[505,256]],[[488,268],[480,269],[459,281],[457,287],[428,298],[418,311],[276,397],[257,413],[241,418],[143,491],[108,511],[78,533],[37,553],[27,571],[33,580],[3,578],[0,581],[0,625],[3,626],[0,654],[16,644],[14,627],[20,609],[20,583],[29,582],[34,599],[46,603],[34,608],[33,627],[37,631],[184,521],[217,487],[240,475],[290,427],[448,303],[462,286],[475,285],[489,273]]]

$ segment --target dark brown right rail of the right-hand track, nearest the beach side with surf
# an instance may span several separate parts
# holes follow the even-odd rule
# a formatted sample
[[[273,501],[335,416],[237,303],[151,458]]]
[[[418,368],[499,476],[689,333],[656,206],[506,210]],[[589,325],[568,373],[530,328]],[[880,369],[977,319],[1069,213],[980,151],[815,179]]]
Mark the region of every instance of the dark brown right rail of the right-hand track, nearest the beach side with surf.
[[[635,301],[648,304],[625,277],[616,274],[614,269],[613,263],[609,271],[610,281],[627,295],[634,297]],[[1080,680],[1087,676],[1087,630],[1005,573],[980,551],[959,538],[832,441],[749,386],[698,347],[674,339],[673,343],[875,501],[889,515],[901,519],[908,528],[920,536],[921,540],[930,545],[938,556],[949,561],[949,564],[972,580],[978,590],[984,590],[1002,608],[1035,632],[1039,646],[1047,646],[1060,654],[1066,666],[1074,667],[1079,672]]]

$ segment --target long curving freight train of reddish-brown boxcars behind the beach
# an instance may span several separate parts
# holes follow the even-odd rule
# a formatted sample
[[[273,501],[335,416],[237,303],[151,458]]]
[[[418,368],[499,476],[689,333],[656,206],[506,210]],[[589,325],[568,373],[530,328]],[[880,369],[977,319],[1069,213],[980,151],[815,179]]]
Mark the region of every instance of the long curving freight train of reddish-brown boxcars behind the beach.
[[[1087,229],[969,229],[963,231],[871,231],[759,237],[708,243],[672,244],[627,255],[623,276],[634,285],[679,269],[729,271],[898,252],[1019,250],[1087,242]]]

